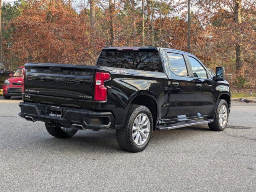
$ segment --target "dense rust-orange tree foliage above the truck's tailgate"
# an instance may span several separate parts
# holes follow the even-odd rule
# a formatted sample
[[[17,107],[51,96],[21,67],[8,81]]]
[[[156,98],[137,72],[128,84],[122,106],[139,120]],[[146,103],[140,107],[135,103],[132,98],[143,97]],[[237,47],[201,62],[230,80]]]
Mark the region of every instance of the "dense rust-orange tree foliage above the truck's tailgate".
[[[28,3],[23,14],[11,21],[16,30],[10,50],[21,63],[85,63],[90,60],[90,22],[61,2]],[[102,41],[99,47],[104,46]]]

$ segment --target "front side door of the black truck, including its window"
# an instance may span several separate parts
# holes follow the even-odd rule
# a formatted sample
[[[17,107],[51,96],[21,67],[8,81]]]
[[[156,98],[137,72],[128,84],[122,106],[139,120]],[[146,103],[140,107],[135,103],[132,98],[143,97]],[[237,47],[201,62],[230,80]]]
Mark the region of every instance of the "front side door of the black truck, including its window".
[[[204,117],[212,116],[216,103],[212,78],[197,58],[188,56],[188,61],[196,86],[195,108],[192,115]]]

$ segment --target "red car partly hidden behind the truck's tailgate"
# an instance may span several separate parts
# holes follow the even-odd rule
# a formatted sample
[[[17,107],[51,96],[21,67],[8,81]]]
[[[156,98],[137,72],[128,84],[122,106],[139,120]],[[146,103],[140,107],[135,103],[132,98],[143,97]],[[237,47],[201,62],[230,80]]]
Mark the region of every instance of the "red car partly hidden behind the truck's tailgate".
[[[22,96],[21,83],[22,83],[22,69],[24,66],[19,67],[14,75],[4,81],[3,94],[4,99],[10,99],[11,96]]]

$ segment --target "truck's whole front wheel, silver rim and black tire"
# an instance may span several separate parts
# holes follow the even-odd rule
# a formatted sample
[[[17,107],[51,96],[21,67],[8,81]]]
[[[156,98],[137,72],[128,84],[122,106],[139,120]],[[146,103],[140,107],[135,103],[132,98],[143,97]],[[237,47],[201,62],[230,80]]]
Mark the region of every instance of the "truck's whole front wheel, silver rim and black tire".
[[[214,121],[208,123],[210,130],[223,131],[228,124],[228,104],[226,100],[220,99],[216,108]]]

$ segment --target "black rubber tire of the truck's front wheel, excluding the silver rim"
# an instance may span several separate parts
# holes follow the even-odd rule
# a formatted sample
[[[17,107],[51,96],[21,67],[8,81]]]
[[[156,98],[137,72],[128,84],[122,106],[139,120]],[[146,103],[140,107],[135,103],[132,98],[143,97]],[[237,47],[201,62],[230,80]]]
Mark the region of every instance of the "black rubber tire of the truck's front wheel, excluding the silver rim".
[[[220,108],[223,105],[225,105],[226,109],[227,109],[227,119],[226,119],[226,123],[223,126],[221,126],[220,122],[219,122],[219,114],[220,114]],[[223,131],[226,128],[227,123],[228,123],[228,114],[229,114],[229,109],[228,109],[228,104],[227,104],[226,100],[220,99],[218,101],[218,105],[217,105],[217,108],[216,108],[216,111],[215,111],[214,121],[212,123],[208,123],[208,126],[209,126],[210,130],[212,130],[212,131]]]

